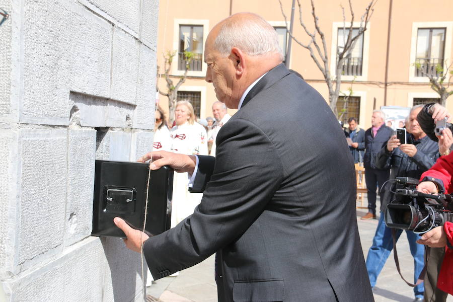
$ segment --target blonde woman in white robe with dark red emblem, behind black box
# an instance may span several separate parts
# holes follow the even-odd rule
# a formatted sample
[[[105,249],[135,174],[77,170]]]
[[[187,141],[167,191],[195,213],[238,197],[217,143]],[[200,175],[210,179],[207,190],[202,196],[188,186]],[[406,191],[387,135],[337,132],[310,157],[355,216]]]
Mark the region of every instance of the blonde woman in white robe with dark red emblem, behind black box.
[[[188,155],[207,155],[207,134],[204,127],[194,122],[195,114],[188,101],[176,103],[176,125],[170,130],[171,150],[174,153]],[[200,203],[202,193],[189,193],[187,173],[175,173],[173,176],[172,223],[175,226],[191,215]]]

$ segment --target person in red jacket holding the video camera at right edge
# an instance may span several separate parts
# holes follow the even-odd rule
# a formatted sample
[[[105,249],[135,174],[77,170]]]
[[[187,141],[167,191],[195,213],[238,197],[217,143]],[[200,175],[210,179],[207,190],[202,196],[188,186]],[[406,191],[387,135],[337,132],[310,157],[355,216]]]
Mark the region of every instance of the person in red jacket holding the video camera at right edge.
[[[438,104],[431,107],[428,111],[432,114],[434,121],[448,117],[448,112],[444,107]],[[451,142],[453,140],[451,130],[448,128],[444,129],[438,139],[439,146],[444,142]],[[417,187],[418,191],[428,194],[453,193],[453,153],[450,153],[449,148],[440,150],[440,153],[442,156],[434,166],[422,174],[421,182]],[[453,223],[447,221],[443,226],[437,226],[437,228],[423,234],[417,243],[427,245],[430,248],[445,249],[445,255],[437,278],[437,288],[453,294]],[[429,274],[429,272],[427,273]]]

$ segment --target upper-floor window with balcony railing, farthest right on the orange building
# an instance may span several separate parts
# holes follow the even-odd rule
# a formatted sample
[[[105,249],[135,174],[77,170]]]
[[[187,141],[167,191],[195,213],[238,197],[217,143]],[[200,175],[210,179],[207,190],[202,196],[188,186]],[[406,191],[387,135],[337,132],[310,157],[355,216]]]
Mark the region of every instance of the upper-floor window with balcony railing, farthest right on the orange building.
[[[436,66],[443,66],[446,28],[419,28],[415,54],[415,77],[436,73]]]

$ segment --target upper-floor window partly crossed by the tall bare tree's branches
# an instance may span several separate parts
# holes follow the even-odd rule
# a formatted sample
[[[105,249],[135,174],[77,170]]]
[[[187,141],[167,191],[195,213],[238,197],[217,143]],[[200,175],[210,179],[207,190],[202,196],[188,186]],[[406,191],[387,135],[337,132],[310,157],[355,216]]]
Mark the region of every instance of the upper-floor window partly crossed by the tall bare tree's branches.
[[[358,28],[352,29],[352,36],[357,35]],[[348,39],[349,29],[338,28],[338,40],[337,45],[340,51],[343,50],[344,44]],[[349,49],[349,58],[343,62],[343,74],[344,75],[362,75],[362,64],[363,64],[363,34],[357,38],[354,48]]]

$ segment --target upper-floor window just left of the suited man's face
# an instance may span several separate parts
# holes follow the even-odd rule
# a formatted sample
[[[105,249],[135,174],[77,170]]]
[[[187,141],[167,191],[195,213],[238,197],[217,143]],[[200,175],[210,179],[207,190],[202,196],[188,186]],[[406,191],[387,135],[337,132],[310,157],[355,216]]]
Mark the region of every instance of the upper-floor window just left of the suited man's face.
[[[202,25],[180,25],[179,26],[179,48],[178,48],[178,70],[185,70],[186,60],[184,51],[193,53],[189,70],[201,71],[203,62],[203,26]]]

